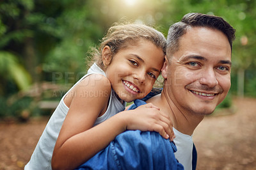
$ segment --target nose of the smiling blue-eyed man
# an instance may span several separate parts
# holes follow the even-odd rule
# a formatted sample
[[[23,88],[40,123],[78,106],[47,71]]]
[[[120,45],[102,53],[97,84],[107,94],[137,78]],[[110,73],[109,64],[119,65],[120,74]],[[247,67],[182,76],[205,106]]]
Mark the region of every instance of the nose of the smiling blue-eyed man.
[[[209,88],[213,88],[214,86],[216,86],[218,84],[218,80],[216,77],[216,73],[214,72],[214,69],[204,70],[201,73],[199,82],[200,84],[209,86]]]

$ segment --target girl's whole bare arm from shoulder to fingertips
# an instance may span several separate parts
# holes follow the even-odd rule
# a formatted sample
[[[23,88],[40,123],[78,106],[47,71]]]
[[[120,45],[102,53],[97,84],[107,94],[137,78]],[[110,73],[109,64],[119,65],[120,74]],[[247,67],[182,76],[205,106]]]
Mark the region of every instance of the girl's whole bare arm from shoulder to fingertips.
[[[111,84],[106,77],[97,75],[84,79],[76,87],[67,118],[56,141],[52,169],[78,167],[108,146],[116,135],[126,129],[154,130],[166,138],[169,137],[166,133],[173,134],[170,118],[161,114],[152,104],[143,105],[133,111],[120,112],[93,127],[95,120],[108,107]],[[88,91],[91,95],[86,97]]]

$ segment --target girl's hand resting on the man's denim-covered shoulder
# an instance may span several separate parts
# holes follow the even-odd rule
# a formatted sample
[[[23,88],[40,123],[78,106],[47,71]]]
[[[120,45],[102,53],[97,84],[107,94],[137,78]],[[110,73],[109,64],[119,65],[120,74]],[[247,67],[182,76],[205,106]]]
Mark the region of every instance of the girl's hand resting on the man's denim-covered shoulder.
[[[141,105],[134,110],[120,113],[126,120],[127,130],[155,131],[165,139],[173,141],[175,138],[172,120],[153,104]]]

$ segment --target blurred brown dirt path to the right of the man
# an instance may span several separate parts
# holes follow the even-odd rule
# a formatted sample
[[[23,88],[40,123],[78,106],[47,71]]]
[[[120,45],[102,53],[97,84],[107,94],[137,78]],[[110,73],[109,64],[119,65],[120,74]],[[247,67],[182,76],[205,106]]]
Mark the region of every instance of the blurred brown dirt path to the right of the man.
[[[256,169],[256,100],[233,102],[234,114],[207,117],[196,128],[198,169]]]

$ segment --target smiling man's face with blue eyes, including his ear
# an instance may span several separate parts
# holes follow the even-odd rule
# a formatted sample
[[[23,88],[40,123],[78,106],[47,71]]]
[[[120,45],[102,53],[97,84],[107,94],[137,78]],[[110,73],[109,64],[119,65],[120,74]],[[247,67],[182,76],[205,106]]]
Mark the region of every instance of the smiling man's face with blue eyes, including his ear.
[[[231,49],[216,29],[193,27],[163,68],[168,95],[180,111],[211,114],[230,89]]]

